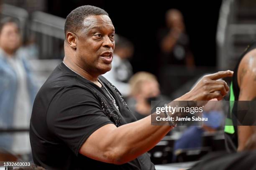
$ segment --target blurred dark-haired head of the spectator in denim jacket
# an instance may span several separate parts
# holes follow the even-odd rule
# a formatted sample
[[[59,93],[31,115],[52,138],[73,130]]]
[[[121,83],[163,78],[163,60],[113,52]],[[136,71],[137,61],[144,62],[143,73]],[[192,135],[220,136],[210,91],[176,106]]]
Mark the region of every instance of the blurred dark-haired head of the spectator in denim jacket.
[[[8,54],[13,54],[20,46],[21,37],[17,22],[13,18],[3,18],[0,21],[0,48]]]

